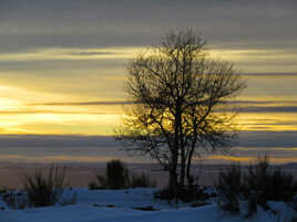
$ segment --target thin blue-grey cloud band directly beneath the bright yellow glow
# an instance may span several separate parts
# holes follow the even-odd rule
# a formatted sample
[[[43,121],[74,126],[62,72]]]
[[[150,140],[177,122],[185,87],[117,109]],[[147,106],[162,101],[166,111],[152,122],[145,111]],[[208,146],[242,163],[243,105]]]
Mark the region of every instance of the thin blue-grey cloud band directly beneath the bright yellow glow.
[[[297,131],[239,131],[236,147],[296,148]],[[113,137],[69,135],[0,135],[0,150],[17,147],[117,147]]]

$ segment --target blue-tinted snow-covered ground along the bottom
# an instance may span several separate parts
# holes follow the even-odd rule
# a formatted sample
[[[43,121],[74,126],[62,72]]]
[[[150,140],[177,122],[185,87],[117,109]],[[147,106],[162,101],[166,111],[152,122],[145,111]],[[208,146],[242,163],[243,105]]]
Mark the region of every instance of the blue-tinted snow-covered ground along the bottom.
[[[258,209],[257,215],[245,219],[243,214],[231,216],[222,213],[215,201],[208,205],[192,208],[191,204],[172,205],[153,198],[155,189],[88,190],[72,189],[65,195],[76,192],[76,203],[47,208],[8,209],[3,201],[0,222],[274,222],[285,221],[293,211],[283,202],[269,203],[278,214]],[[152,207],[156,211],[136,208]]]

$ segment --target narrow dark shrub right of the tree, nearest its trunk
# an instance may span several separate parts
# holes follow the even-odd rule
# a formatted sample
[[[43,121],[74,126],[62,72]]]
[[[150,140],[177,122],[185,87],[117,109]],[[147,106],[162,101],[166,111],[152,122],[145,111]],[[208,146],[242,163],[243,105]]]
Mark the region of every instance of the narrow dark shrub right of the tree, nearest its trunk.
[[[234,165],[227,171],[221,171],[216,189],[218,207],[232,214],[239,213],[239,197],[243,190],[240,166]]]

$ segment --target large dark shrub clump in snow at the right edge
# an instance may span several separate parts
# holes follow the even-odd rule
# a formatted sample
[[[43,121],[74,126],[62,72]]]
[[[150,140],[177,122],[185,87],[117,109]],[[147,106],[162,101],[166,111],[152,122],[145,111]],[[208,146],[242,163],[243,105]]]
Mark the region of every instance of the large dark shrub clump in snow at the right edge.
[[[227,171],[221,171],[216,184],[218,207],[232,214],[239,213],[239,201],[247,202],[246,216],[257,212],[259,205],[264,210],[276,213],[267,201],[284,201],[296,205],[297,181],[281,168],[274,169],[267,157],[259,158],[256,165],[250,165],[243,172],[239,165],[232,166]]]

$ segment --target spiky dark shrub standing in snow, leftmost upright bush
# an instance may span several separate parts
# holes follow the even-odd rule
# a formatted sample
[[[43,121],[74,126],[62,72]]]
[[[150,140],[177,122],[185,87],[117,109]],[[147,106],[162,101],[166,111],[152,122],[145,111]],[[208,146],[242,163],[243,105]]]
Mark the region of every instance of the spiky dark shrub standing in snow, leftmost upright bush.
[[[37,170],[33,176],[24,176],[23,187],[30,204],[34,207],[53,205],[63,194],[65,167],[51,166],[48,176]]]

